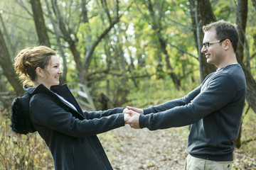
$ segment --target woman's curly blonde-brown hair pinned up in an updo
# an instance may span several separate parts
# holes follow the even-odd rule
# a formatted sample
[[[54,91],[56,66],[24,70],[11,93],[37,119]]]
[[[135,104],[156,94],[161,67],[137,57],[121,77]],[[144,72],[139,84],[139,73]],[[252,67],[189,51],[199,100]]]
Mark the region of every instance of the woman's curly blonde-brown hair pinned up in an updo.
[[[18,52],[14,58],[14,68],[19,79],[23,81],[23,85],[31,85],[32,82],[36,81],[36,68],[45,69],[52,55],[56,55],[56,52],[43,45],[26,47]]]

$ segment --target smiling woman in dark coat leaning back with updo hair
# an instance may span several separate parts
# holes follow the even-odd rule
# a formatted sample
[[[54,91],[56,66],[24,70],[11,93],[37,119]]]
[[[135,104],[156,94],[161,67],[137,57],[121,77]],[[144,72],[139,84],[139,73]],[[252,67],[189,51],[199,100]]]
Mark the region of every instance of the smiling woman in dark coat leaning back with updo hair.
[[[123,108],[82,112],[68,86],[59,83],[63,71],[49,47],[21,50],[14,66],[32,87],[25,85],[25,97],[14,101],[11,128],[23,134],[37,130],[55,169],[112,169],[97,134],[124,126],[129,115]]]

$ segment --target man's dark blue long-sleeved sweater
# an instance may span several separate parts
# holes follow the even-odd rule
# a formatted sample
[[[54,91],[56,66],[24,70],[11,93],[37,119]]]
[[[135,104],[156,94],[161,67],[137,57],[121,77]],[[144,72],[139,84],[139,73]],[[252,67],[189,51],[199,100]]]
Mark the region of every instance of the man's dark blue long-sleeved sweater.
[[[187,151],[193,157],[232,161],[245,104],[245,75],[230,64],[206,77],[183,98],[144,109],[140,128],[149,130],[191,125]]]

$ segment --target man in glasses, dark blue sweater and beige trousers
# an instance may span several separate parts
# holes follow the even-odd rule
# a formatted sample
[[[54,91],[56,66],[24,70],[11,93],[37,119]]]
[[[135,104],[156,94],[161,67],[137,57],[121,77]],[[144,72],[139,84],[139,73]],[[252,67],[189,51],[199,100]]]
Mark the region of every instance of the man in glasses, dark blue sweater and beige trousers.
[[[191,125],[185,169],[231,169],[246,93],[235,57],[238,30],[222,20],[203,26],[203,32],[201,52],[217,71],[183,98],[144,109],[128,106],[124,111],[132,117],[126,123],[149,130]]]

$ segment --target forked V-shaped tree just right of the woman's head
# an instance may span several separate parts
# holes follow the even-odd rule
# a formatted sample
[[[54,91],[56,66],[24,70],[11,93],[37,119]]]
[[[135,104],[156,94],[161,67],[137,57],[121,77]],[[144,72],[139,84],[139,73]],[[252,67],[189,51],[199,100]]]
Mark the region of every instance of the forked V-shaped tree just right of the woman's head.
[[[89,73],[89,67],[90,67],[90,63],[92,61],[92,56],[93,56],[93,52],[95,51],[95,48],[97,47],[97,45],[100,43],[100,41],[102,40],[102,38],[105,37],[105,35],[107,35],[107,33],[110,32],[110,30],[114,27],[114,25],[116,23],[119,22],[119,18],[121,17],[119,15],[119,1],[116,0],[116,10],[115,10],[115,16],[113,18],[110,18],[110,11],[105,10],[106,11],[106,15],[109,16],[109,26],[107,26],[107,28],[105,28],[105,30],[102,31],[102,33],[100,33],[100,35],[97,35],[97,38],[95,38],[95,40],[92,40],[92,35],[87,35],[87,45],[85,45],[85,48],[83,49],[83,51],[85,51],[85,55],[84,57],[82,57],[80,50],[78,50],[77,47],[77,43],[79,41],[78,39],[78,35],[77,33],[74,31],[73,28],[70,28],[64,21],[63,17],[60,15],[60,9],[58,7],[57,1],[56,0],[52,0],[52,5],[53,5],[53,10],[57,19],[57,23],[61,33],[63,35],[63,39],[68,42],[69,44],[69,48],[70,51],[73,54],[78,72],[80,73],[80,77],[79,77],[79,81],[82,84],[87,84],[87,79],[88,79],[88,73]],[[87,28],[89,28],[90,26],[90,18],[88,18],[87,16],[87,8],[86,8],[86,3],[85,1],[82,1],[82,24],[87,25]],[[104,1],[104,3],[102,3],[102,7],[103,8],[107,8],[107,1]],[[78,23],[78,26],[81,23]],[[77,27],[78,27],[77,26]],[[83,58],[83,60],[82,60]]]

